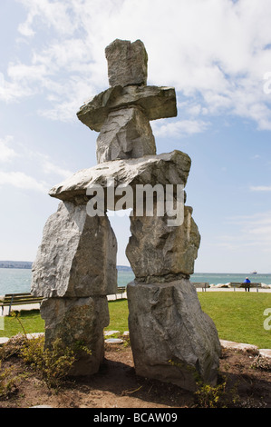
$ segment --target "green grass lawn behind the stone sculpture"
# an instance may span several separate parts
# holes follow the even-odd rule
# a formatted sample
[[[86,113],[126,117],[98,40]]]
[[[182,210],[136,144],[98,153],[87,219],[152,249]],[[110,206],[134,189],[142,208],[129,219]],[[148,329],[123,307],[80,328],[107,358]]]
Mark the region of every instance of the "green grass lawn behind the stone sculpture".
[[[216,324],[220,339],[255,344],[271,348],[271,330],[264,328],[264,311],[271,308],[271,293],[198,292],[202,310]],[[127,300],[109,303],[111,323],[106,330],[128,331]],[[20,316],[26,333],[44,332],[44,321],[38,311],[22,312]],[[22,332],[18,320],[5,317],[5,329],[0,336],[10,337]]]

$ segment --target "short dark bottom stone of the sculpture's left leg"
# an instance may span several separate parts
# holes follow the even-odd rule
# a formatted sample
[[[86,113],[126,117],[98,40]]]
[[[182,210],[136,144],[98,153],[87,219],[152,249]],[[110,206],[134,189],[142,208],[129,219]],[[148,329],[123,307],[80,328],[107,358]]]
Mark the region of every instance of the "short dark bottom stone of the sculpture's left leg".
[[[76,351],[78,360],[71,375],[98,372],[104,355],[103,328],[110,321],[106,296],[45,299],[41,316],[45,321],[44,347],[50,348],[56,339],[61,339]]]

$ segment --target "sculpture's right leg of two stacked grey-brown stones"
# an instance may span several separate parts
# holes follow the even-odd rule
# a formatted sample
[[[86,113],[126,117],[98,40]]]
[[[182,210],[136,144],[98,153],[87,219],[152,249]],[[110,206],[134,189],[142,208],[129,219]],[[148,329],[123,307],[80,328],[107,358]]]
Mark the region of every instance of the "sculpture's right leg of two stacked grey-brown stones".
[[[127,286],[131,348],[137,374],[194,391],[197,378],[217,382],[220,343],[189,275],[200,236],[185,206],[184,221],[131,217],[126,254],[135,280]]]

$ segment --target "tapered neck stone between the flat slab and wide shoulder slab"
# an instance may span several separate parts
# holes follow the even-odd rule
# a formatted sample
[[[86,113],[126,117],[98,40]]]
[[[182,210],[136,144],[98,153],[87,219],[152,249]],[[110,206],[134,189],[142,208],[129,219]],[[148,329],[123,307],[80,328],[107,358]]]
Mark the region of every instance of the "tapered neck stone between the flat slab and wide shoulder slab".
[[[97,162],[156,154],[150,122],[139,108],[112,111],[97,138]]]

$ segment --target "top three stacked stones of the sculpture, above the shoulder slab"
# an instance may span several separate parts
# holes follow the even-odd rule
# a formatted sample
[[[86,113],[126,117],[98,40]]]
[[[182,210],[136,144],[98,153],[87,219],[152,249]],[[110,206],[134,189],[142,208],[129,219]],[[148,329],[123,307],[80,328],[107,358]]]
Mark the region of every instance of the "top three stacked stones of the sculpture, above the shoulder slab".
[[[111,87],[83,104],[78,118],[97,138],[98,164],[156,154],[150,120],[177,115],[172,87],[147,85],[148,55],[140,40],[115,40],[105,49]]]

